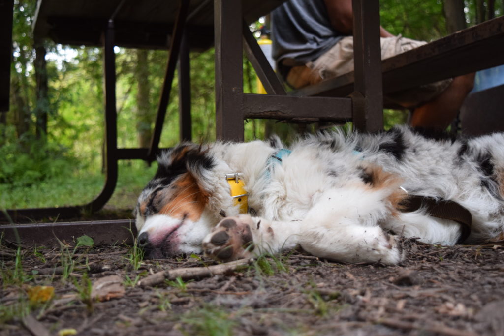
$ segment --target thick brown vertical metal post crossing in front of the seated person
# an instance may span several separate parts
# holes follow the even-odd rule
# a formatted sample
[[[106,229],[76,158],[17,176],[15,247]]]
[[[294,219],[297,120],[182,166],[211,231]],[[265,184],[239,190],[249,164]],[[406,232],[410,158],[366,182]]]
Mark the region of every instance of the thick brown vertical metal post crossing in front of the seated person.
[[[378,0],[352,0],[355,91],[362,94],[361,108],[354,108],[356,129],[383,129],[380,6]],[[357,98],[358,99],[358,98]]]

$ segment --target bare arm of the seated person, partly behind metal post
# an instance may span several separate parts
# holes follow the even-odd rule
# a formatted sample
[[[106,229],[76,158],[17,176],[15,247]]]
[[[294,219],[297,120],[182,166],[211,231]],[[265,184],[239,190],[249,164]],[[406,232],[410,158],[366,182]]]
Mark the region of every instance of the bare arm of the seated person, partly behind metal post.
[[[353,30],[353,10],[352,0],[324,0],[331,25],[337,31],[352,35]],[[385,28],[380,26],[381,37],[392,37]]]

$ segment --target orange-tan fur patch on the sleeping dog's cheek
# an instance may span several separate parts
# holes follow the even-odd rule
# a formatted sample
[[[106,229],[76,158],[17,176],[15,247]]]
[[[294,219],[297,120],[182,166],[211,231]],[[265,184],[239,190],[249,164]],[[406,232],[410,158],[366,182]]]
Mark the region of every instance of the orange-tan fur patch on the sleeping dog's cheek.
[[[175,186],[170,191],[173,196],[167,199],[168,203],[163,205],[160,213],[175,218],[186,216],[193,222],[198,221],[210,195],[200,188],[198,181],[190,173],[181,175],[171,185]]]

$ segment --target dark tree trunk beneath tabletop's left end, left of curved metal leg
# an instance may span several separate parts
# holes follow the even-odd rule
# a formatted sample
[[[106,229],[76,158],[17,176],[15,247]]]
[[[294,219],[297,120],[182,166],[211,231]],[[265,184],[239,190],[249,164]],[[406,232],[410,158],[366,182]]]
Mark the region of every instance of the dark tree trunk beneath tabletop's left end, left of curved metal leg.
[[[42,41],[35,41],[35,82],[36,82],[36,97],[35,103],[35,118],[36,129],[35,134],[38,140],[43,140],[47,134],[47,114],[49,112],[49,96],[47,93],[47,63],[45,61],[46,50]]]

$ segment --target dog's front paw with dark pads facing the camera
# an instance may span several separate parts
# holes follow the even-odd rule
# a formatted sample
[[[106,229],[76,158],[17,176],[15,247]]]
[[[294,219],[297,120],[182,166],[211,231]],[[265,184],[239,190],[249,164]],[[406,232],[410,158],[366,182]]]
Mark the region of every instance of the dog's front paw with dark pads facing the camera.
[[[223,219],[203,239],[203,251],[219,261],[230,261],[250,257],[254,250],[254,239],[250,231],[253,224],[250,216]]]

